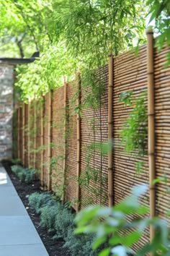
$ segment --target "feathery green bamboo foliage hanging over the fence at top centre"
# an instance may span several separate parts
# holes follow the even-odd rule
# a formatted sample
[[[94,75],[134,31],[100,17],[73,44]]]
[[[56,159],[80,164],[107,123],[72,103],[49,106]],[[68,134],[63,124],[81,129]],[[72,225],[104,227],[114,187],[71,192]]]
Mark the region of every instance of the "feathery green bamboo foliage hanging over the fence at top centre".
[[[144,16],[141,1],[68,1],[54,12],[56,36],[66,40],[81,63],[95,69],[111,52],[117,55],[132,46],[133,38],[143,34]]]

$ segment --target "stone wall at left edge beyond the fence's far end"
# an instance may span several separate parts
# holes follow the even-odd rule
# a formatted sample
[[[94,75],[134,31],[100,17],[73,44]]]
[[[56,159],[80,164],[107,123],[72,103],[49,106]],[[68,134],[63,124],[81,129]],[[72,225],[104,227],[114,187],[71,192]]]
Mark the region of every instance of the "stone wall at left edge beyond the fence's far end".
[[[0,161],[12,158],[14,67],[0,66]]]

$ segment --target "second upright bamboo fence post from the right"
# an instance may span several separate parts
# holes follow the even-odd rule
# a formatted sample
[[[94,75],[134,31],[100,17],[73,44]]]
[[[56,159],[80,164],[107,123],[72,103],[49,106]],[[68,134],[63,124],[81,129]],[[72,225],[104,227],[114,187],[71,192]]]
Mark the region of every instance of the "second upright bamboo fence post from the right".
[[[113,129],[113,57],[109,55],[109,85],[108,85],[108,143],[112,143]],[[112,149],[108,153],[108,197],[109,207],[113,205],[113,163]]]

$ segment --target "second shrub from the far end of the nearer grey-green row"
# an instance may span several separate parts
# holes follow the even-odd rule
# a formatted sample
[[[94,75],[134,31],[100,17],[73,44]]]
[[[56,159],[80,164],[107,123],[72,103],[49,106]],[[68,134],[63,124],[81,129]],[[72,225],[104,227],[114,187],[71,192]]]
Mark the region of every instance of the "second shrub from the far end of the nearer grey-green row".
[[[58,204],[55,205],[46,205],[45,207],[41,208],[41,215],[40,215],[40,225],[43,228],[47,228],[48,232],[55,231],[55,216],[58,212]]]

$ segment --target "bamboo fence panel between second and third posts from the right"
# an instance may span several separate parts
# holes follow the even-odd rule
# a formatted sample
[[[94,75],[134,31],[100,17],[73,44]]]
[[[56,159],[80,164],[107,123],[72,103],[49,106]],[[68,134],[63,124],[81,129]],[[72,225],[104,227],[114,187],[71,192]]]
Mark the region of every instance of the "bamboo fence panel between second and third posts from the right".
[[[107,142],[108,137],[108,66],[99,69],[97,76],[99,82],[102,82],[100,85],[101,92],[99,91],[96,95],[97,100],[99,100],[97,102],[98,106],[91,104],[89,108],[83,108],[81,116],[81,208],[91,203],[108,204],[107,156],[100,153],[100,146],[103,142]],[[90,87],[84,88],[84,85],[82,85],[81,104],[86,101],[88,93],[91,95],[91,103],[93,99],[95,101]]]

